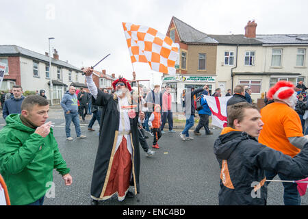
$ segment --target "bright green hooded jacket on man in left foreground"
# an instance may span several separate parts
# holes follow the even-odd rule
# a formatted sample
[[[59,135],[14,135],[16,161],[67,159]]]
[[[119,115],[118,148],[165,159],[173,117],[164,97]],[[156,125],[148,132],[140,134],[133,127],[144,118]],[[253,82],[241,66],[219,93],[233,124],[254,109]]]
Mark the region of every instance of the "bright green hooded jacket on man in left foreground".
[[[45,195],[53,181],[53,169],[66,175],[70,169],[53,137],[34,133],[21,122],[20,114],[10,114],[0,131],[0,173],[8,187],[12,205],[28,205]]]

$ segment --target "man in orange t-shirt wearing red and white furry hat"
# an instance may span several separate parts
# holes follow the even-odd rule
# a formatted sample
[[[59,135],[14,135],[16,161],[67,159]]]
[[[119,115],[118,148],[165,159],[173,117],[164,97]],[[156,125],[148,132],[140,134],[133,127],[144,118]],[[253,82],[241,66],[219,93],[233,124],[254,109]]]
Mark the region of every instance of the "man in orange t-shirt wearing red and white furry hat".
[[[274,103],[261,109],[264,127],[258,140],[261,144],[294,157],[308,142],[303,136],[300,118],[294,110],[297,102],[294,85],[289,81],[278,81],[268,90],[267,97]],[[276,175],[277,172],[266,171],[266,179],[273,179]],[[289,180],[288,176],[278,175],[282,180]],[[285,205],[300,205],[296,183],[283,183],[283,186]]]

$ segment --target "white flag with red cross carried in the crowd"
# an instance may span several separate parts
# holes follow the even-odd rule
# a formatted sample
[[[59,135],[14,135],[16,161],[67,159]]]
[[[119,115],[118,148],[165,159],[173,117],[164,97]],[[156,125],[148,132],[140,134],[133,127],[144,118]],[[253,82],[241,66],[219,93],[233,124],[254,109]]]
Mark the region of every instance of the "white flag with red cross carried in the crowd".
[[[204,96],[211,110],[211,125],[227,127],[227,101],[231,96]]]

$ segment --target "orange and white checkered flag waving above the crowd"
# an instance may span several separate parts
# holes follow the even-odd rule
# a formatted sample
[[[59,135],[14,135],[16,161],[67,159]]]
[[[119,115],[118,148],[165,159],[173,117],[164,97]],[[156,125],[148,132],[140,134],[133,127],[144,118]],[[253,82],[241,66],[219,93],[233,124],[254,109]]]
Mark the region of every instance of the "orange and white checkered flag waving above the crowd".
[[[152,70],[175,75],[179,44],[151,27],[123,23],[131,63],[147,62]]]

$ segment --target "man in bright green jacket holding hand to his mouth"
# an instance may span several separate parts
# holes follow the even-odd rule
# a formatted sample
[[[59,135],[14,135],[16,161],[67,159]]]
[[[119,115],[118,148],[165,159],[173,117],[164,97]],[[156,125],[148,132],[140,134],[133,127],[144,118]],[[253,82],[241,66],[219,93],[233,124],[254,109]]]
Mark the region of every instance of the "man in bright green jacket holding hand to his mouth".
[[[0,131],[0,174],[8,186],[12,205],[42,205],[53,181],[53,169],[65,185],[72,183],[70,169],[57,147],[49,103],[42,96],[27,96],[21,114],[10,114]]]

